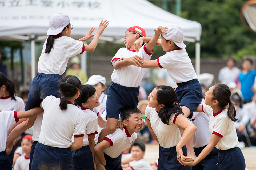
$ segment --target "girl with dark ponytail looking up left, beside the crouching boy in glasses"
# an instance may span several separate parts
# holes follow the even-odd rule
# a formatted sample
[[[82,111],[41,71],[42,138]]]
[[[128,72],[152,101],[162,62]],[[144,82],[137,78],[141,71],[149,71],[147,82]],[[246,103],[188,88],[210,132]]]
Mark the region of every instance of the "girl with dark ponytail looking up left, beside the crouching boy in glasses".
[[[170,86],[157,86],[148,99],[145,116],[150,133],[159,143],[158,170],[191,169],[182,166],[176,158],[187,156],[185,144],[197,128],[183,116],[179,104],[174,103],[177,100],[175,91]],[[182,138],[179,128],[184,130]]]

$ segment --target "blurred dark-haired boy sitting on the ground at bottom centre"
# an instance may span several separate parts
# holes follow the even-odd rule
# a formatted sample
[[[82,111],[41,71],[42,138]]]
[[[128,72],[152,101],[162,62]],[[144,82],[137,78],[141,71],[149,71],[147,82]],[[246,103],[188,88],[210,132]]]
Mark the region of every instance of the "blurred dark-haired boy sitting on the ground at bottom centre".
[[[143,158],[145,145],[142,142],[134,142],[131,145],[131,159],[122,160],[123,170],[152,170],[151,165]]]

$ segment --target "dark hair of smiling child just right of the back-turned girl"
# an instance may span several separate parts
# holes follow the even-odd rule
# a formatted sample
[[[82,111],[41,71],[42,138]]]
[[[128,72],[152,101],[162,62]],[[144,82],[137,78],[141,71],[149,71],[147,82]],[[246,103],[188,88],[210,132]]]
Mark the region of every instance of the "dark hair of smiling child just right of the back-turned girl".
[[[89,84],[81,86],[80,96],[75,99],[75,105],[82,106],[95,93],[95,88]]]

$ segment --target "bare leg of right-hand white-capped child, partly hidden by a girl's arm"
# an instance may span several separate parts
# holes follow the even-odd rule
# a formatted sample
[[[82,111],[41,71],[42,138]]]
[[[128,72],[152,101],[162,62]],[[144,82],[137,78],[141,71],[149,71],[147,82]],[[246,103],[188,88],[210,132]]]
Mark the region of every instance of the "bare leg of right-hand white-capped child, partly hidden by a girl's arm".
[[[182,108],[182,112],[184,113],[183,116],[186,118],[189,117],[189,115],[191,114],[190,109],[186,106],[181,106],[181,108]],[[181,130],[181,135],[183,135],[183,132],[184,130],[183,131]],[[189,142],[186,143],[186,147],[187,147],[187,157],[191,157],[192,160],[194,160],[196,156],[195,156],[194,147],[193,147],[193,138],[191,138]]]

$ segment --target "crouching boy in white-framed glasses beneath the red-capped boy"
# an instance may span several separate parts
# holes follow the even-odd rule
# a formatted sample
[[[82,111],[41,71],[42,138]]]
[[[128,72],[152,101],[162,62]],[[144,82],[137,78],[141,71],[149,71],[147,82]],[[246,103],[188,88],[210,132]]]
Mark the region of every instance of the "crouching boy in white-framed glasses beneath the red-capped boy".
[[[122,170],[118,156],[135,141],[145,122],[137,108],[123,108],[122,114],[125,130],[117,128],[113,134],[107,135],[94,147],[95,154],[106,170]]]

